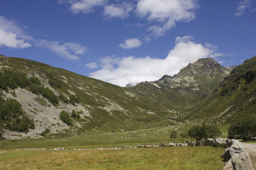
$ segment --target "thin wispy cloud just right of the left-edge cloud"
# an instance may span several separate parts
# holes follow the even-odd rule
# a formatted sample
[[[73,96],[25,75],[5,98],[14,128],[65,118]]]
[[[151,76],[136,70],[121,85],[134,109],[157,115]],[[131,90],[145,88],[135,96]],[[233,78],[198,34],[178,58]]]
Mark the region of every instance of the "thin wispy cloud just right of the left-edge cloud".
[[[48,48],[52,52],[58,54],[60,57],[64,57],[70,60],[80,59],[74,54],[84,54],[87,50],[85,46],[82,46],[76,42],[67,42],[63,45],[60,45],[60,42],[57,41],[39,40],[35,41],[35,44],[39,47]]]

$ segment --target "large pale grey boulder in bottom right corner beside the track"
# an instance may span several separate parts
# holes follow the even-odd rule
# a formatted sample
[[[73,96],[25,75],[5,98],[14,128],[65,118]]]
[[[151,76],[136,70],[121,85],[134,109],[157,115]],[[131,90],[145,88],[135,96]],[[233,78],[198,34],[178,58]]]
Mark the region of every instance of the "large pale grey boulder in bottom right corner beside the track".
[[[230,143],[230,141],[228,142]],[[223,170],[254,169],[253,165],[251,164],[249,154],[245,150],[243,150],[240,143],[235,139],[232,139],[231,143],[232,145],[226,148],[225,152],[221,155],[221,158],[228,160],[228,162],[225,163]]]

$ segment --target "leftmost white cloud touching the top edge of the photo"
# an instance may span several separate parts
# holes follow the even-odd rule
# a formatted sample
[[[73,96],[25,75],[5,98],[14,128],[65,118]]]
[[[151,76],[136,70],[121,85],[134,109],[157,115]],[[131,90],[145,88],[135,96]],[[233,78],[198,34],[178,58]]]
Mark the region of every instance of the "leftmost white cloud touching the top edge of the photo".
[[[71,7],[70,11],[77,14],[79,12],[82,13],[90,13],[94,11],[94,8],[98,6],[104,6],[108,0],[59,0],[59,3],[70,3]]]

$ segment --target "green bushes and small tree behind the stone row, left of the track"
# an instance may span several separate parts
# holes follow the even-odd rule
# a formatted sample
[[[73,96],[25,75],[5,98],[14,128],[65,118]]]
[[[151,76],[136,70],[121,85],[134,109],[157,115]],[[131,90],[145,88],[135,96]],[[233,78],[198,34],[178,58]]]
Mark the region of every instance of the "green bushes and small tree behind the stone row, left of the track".
[[[195,138],[196,140],[200,139],[208,139],[208,138],[216,138],[221,135],[220,129],[216,125],[208,125],[203,123],[200,125],[192,126],[187,132],[180,133],[180,137],[183,139],[187,138],[188,136],[191,138]],[[170,138],[174,139],[178,137],[177,131],[172,130],[170,134]]]

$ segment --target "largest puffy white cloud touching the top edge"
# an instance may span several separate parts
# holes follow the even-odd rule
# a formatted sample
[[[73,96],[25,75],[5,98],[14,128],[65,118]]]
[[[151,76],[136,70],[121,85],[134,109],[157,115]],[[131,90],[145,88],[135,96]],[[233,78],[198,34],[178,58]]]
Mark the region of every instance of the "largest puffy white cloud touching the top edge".
[[[197,0],[139,0],[137,14],[156,23],[148,29],[154,36],[159,37],[175,27],[176,22],[195,19],[194,10],[198,7]]]

